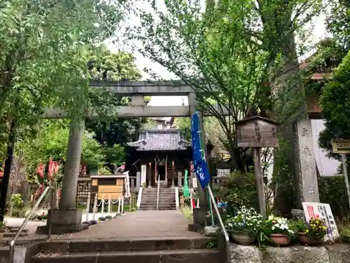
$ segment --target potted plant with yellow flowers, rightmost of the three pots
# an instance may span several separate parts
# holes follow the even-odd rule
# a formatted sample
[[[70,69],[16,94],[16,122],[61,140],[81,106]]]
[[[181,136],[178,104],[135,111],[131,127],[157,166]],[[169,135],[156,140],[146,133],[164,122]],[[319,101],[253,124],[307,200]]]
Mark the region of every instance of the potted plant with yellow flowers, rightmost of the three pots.
[[[305,245],[320,245],[327,234],[327,224],[321,218],[311,218],[309,223],[298,229],[297,236],[300,243]]]

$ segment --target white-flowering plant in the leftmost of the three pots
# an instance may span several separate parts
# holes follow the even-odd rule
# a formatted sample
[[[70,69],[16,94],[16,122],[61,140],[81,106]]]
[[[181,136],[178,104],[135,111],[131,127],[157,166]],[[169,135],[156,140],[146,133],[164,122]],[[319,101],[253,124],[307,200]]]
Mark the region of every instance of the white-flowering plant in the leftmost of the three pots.
[[[261,224],[262,216],[256,213],[254,208],[242,206],[235,217],[228,217],[225,227],[229,231],[251,230],[257,234]]]

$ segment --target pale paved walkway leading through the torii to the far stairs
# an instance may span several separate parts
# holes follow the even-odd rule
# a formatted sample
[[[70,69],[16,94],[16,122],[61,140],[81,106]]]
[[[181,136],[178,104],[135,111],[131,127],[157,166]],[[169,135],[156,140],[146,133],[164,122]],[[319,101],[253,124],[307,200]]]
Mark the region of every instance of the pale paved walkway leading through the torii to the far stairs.
[[[60,236],[62,239],[132,239],[153,237],[200,237],[188,231],[188,220],[178,210],[137,211],[113,220],[90,226],[76,234]]]

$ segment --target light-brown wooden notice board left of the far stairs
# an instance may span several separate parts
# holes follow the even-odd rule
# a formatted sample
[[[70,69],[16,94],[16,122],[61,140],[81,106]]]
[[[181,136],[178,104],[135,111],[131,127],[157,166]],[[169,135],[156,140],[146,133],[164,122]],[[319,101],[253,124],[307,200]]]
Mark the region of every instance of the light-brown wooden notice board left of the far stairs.
[[[124,175],[92,175],[91,198],[97,194],[97,199],[102,198],[116,200],[124,196],[125,176]]]

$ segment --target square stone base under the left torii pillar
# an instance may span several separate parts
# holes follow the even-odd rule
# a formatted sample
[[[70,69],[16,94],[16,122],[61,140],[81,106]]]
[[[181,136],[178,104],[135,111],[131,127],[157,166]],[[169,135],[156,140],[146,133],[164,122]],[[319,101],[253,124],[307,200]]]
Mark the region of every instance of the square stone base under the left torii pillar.
[[[83,230],[83,225],[81,224],[83,215],[83,210],[80,209],[59,209],[59,210],[49,210],[48,211],[48,222],[43,228],[37,229],[38,231],[43,231],[45,234],[48,233],[48,226],[52,224],[52,234],[68,234],[79,232]]]

